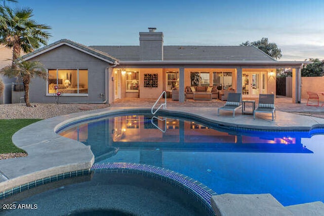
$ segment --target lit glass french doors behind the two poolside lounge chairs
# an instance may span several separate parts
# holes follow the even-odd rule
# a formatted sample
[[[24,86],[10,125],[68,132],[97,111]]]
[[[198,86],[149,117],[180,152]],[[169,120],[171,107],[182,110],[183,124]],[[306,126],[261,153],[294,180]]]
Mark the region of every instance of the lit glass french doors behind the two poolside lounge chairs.
[[[259,94],[266,93],[266,72],[245,72],[242,73],[242,96],[259,97]]]

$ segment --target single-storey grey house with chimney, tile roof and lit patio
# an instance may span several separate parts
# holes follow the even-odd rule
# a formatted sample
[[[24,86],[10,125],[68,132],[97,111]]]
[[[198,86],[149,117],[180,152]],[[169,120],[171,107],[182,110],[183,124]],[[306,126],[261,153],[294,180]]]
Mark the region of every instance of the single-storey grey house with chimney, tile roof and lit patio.
[[[121,98],[153,98],[186,87],[232,88],[242,97],[275,94],[276,68],[293,70],[293,102],[301,100],[304,62],[276,61],[255,47],[164,46],[163,32],[139,33],[139,46],[84,46],[62,39],[22,57],[39,61],[49,80],[34,78],[30,101],[111,103]],[[58,88],[58,89],[56,89]]]

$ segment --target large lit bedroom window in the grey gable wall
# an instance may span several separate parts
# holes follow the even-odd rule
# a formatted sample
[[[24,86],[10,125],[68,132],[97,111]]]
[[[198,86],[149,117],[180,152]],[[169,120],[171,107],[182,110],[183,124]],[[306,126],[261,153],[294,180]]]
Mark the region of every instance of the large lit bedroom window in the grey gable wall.
[[[55,89],[57,86],[57,90]],[[87,69],[49,69],[48,93],[88,94]]]

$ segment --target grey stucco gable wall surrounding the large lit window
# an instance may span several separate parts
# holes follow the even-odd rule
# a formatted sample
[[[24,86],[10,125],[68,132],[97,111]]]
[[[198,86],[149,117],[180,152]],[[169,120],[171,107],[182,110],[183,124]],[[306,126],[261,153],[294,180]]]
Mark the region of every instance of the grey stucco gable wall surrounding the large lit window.
[[[88,96],[63,96],[60,102],[101,102],[105,94],[105,69],[109,65],[100,59],[63,45],[32,58],[41,62],[46,69],[88,69]],[[30,82],[30,102],[54,103],[55,97],[46,96],[47,84],[42,78]]]

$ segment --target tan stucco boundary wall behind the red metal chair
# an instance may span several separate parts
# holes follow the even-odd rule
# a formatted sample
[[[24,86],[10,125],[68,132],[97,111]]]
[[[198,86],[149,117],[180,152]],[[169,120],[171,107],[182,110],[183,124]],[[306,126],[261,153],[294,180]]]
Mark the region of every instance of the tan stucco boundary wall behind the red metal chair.
[[[302,77],[302,98],[308,98],[307,91],[316,93],[324,92],[324,76]]]

